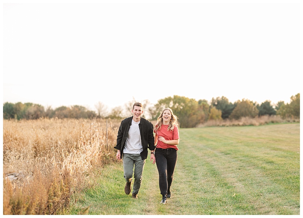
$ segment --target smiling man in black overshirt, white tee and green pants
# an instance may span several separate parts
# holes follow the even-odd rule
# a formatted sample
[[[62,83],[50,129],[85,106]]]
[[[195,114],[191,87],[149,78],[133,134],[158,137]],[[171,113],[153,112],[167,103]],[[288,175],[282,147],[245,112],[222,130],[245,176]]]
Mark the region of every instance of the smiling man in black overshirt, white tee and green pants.
[[[133,105],[132,114],[132,117],[125,118],[121,122],[118,130],[117,145],[114,148],[118,150],[117,159],[123,159],[124,178],[126,180],[124,187],[125,194],[128,195],[131,193],[134,173],[132,197],[137,199],[148,149],[151,150],[150,161],[153,160],[152,164],[156,162],[154,154],[155,139],[153,124],[144,117],[141,117],[143,114],[141,103],[136,102]]]

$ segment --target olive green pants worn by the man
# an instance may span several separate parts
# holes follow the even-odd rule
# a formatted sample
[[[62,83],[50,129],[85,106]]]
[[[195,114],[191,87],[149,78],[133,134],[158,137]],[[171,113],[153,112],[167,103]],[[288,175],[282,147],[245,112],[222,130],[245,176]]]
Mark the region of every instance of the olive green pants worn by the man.
[[[138,194],[142,183],[142,173],[145,165],[145,160],[142,160],[140,154],[123,154],[122,159],[124,178],[126,182],[131,182],[134,173],[134,185],[132,193]]]

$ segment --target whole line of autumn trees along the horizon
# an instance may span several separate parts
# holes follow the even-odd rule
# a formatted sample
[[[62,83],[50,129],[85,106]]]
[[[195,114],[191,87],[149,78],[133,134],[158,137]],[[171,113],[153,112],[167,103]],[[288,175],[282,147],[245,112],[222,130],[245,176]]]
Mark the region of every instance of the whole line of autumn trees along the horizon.
[[[156,120],[161,111],[165,107],[172,108],[174,114],[179,118],[181,127],[189,128],[195,127],[198,124],[204,123],[208,120],[222,120],[231,119],[238,120],[241,117],[257,117],[257,116],[272,116],[279,115],[282,118],[300,118],[300,93],[291,96],[290,103],[285,104],[284,101],[279,101],[273,105],[271,101],[265,101],[260,105],[256,102],[242,99],[234,103],[228,101],[228,98],[222,96],[212,98],[208,103],[206,100],[191,99],[184,96],[174,95],[173,97],[166,97],[158,100],[154,105],[148,105],[148,100],[142,102],[145,110],[150,114],[151,120]],[[132,109],[132,102],[126,104],[126,108],[130,111]],[[71,107],[58,107],[52,109],[51,107],[44,108],[39,104],[18,102],[3,104],[3,119],[39,119],[43,118],[112,118],[122,119],[129,115],[123,113],[122,107],[115,107],[110,113],[106,112],[106,107],[99,102],[95,105],[95,111],[79,105]]]

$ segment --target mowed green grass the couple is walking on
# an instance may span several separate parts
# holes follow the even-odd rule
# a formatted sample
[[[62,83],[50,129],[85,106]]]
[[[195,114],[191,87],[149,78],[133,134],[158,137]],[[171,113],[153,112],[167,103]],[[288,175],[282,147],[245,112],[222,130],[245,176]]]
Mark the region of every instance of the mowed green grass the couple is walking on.
[[[69,214],[300,214],[300,124],[180,129],[178,147],[166,205],[148,157],[138,199],[125,195],[119,162],[102,170]]]

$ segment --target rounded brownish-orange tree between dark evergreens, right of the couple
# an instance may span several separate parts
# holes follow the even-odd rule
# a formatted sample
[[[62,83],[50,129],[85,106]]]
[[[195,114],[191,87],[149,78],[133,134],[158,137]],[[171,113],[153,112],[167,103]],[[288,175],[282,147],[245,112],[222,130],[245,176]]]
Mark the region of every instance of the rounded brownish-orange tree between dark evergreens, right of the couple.
[[[237,102],[237,106],[231,112],[229,118],[235,120],[238,120],[241,117],[254,118],[258,116],[258,113],[259,111],[252,101],[242,99],[242,101]]]

